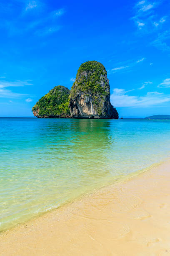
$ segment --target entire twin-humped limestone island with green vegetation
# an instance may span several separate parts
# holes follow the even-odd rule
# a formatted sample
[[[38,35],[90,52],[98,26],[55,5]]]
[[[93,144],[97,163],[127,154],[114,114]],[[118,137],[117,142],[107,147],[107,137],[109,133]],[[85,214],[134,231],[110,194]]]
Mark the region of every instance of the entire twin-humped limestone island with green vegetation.
[[[110,103],[110,84],[105,67],[97,61],[81,64],[71,90],[58,85],[32,108],[37,118],[118,119]]]

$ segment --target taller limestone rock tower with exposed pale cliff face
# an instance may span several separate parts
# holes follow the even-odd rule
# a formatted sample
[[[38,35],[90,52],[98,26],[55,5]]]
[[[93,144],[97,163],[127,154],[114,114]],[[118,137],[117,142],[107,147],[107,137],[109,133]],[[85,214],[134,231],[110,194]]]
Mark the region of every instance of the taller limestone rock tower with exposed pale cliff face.
[[[118,118],[110,103],[110,85],[105,67],[97,61],[83,63],[70,92],[72,118]]]

